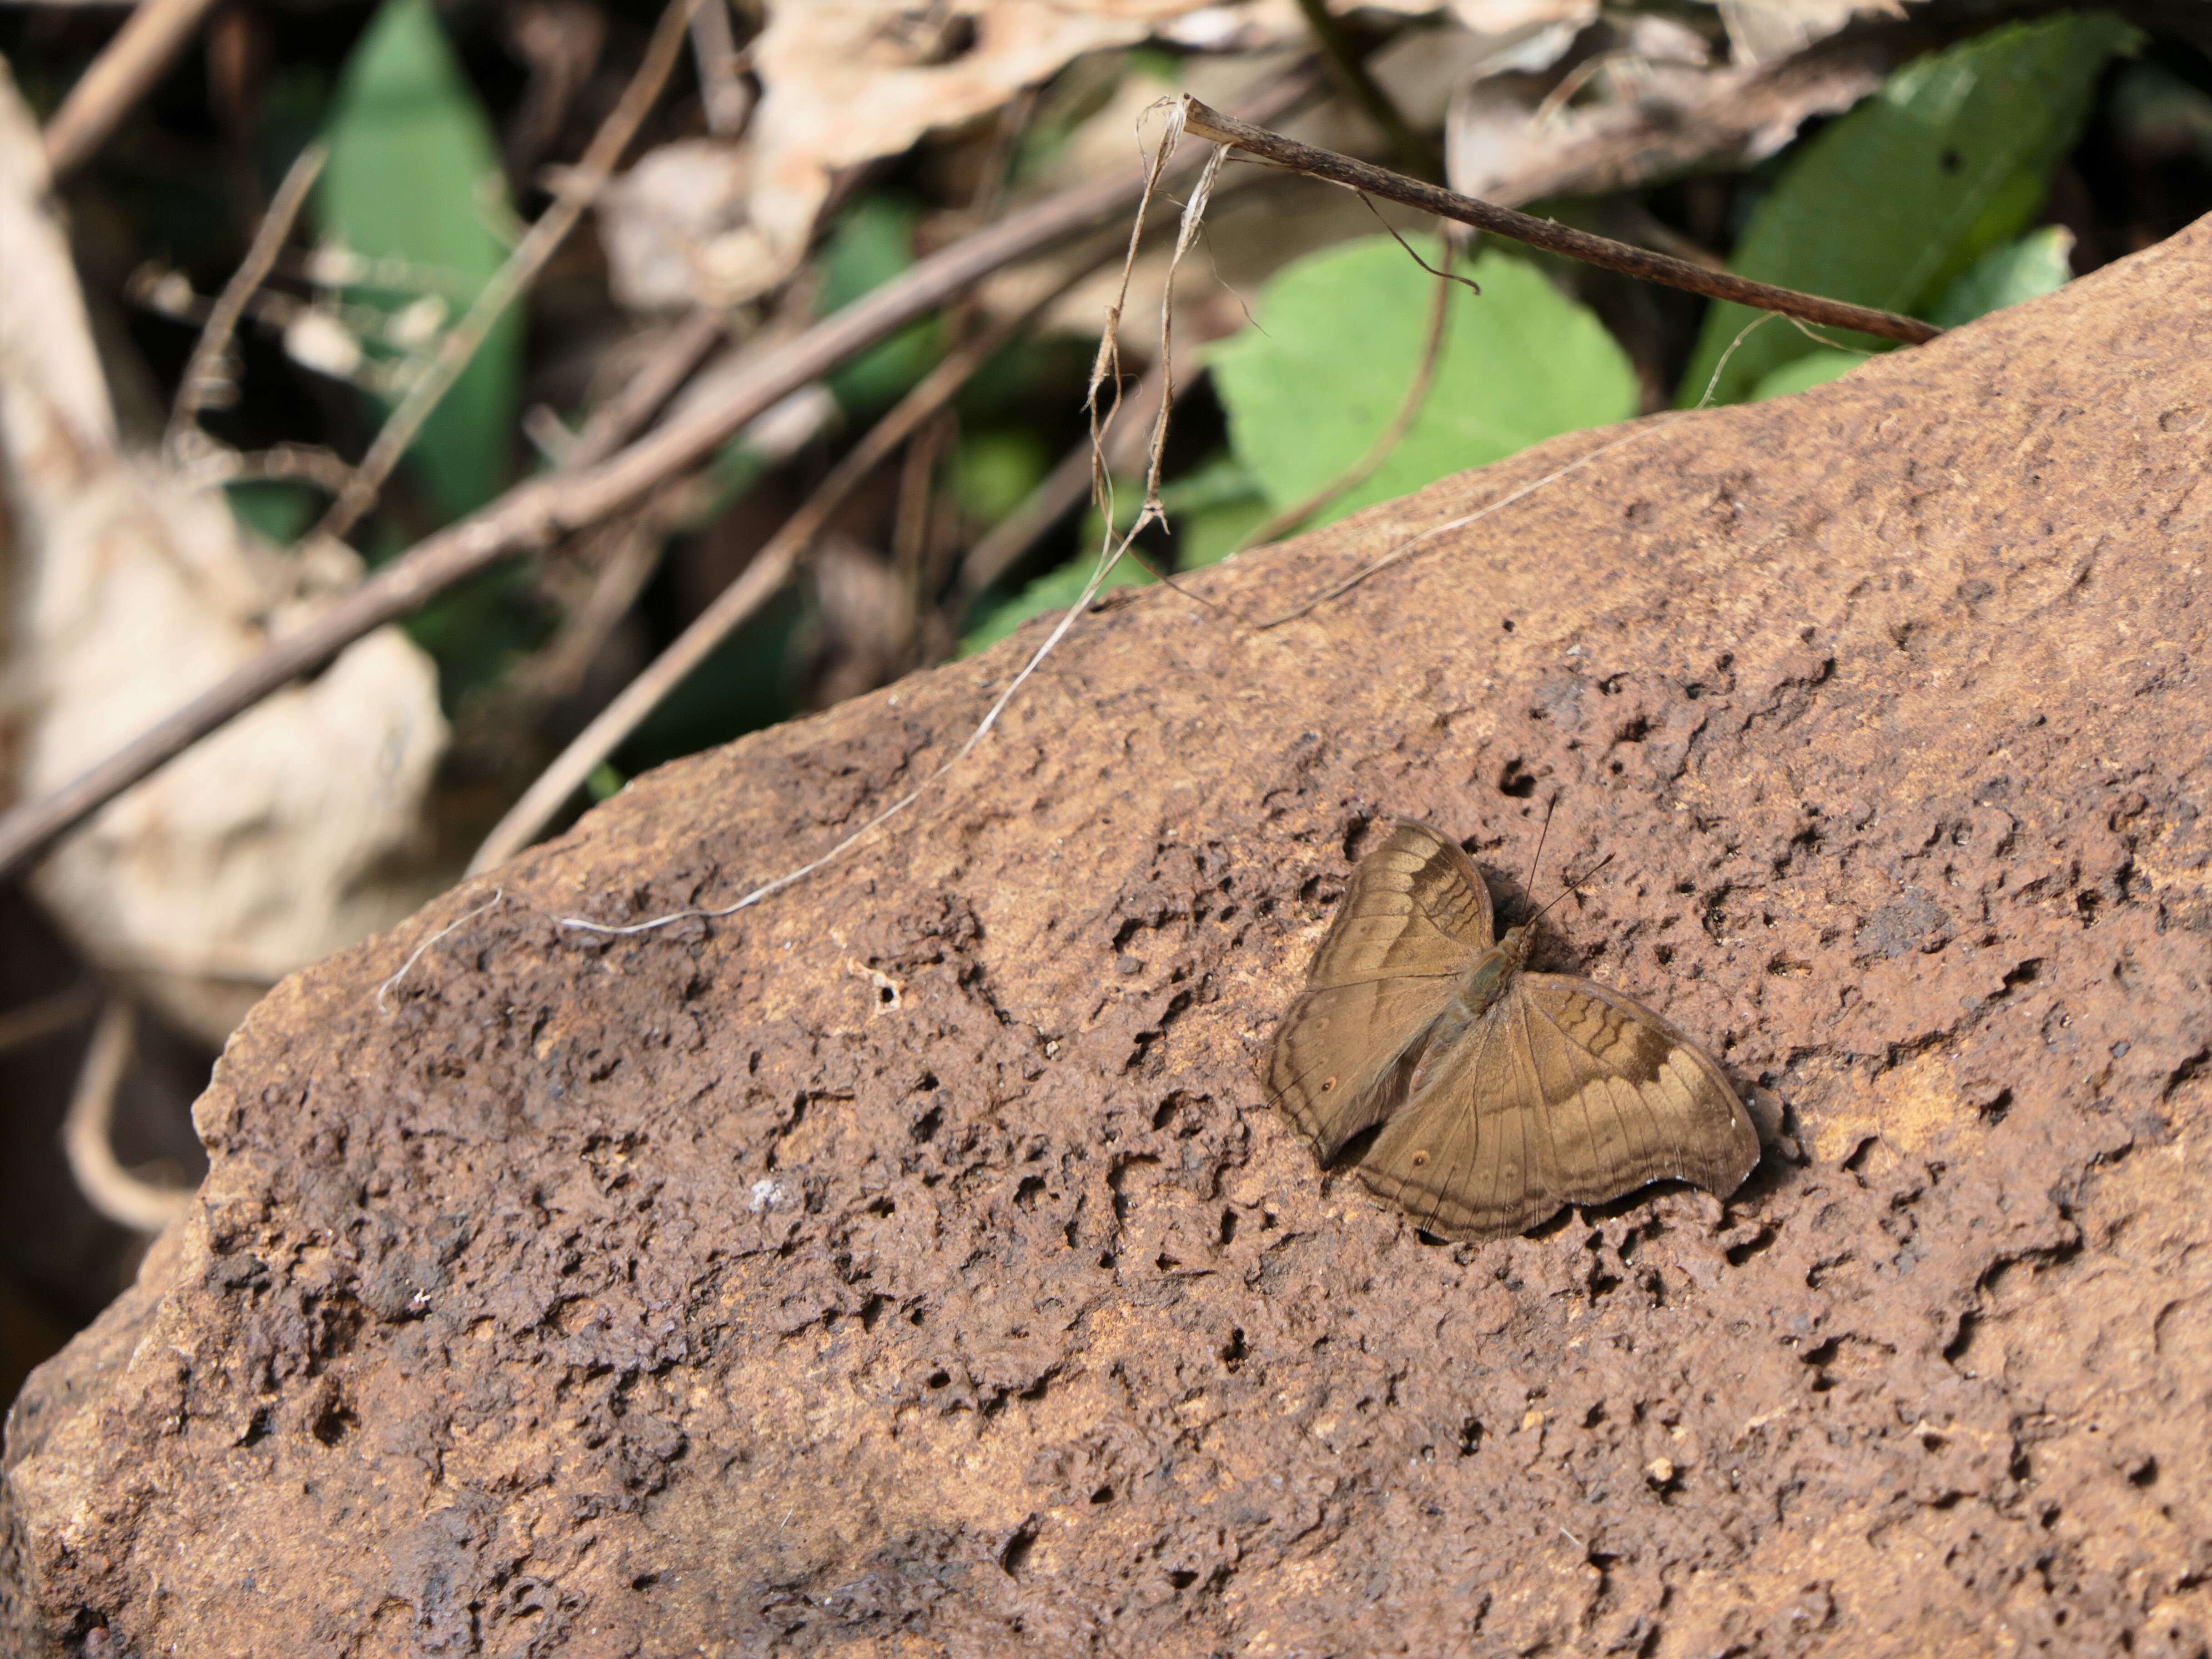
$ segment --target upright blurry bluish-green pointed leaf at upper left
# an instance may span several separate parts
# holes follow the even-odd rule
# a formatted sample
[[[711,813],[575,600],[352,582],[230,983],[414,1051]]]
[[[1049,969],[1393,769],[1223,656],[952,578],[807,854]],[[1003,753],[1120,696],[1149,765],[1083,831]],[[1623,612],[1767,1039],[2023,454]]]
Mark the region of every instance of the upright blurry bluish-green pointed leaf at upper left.
[[[316,188],[323,234],[425,274],[416,292],[349,299],[396,312],[438,292],[453,323],[507,259],[513,219],[491,122],[429,0],[385,0],[345,60]],[[409,467],[451,518],[482,507],[513,469],[522,314],[509,307],[422,425]]]

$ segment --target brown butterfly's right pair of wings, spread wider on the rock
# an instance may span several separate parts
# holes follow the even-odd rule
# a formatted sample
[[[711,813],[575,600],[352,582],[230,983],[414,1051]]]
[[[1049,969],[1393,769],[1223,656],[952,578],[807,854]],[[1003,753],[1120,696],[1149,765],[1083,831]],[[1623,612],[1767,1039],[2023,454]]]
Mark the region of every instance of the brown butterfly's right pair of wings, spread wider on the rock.
[[[1734,1192],[1759,1133],[1721,1068],[1641,1002],[1517,973],[1358,1175],[1429,1232],[1522,1232],[1663,1179]]]

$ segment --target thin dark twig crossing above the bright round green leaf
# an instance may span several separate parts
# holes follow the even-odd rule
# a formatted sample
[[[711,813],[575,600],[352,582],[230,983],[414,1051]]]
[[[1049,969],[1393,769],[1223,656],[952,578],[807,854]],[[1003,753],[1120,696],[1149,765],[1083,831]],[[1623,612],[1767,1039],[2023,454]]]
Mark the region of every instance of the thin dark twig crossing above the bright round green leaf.
[[[1183,95],[1183,108],[1190,131],[1197,137],[1214,144],[1230,144],[1248,155],[1261,157],[1263,161],[1274,161],[1292,173],[1305,173],[1314,179],[1340,184],[1347,190],[1365,190],[1383,197],[1385,201],[1420,208],[1422,212],[1433,212],[1442,219],[1458,219],[1462,226],[1511,237],[1513,241],[1542,248],[1551,254],[1579,259],[1586,265],[1617,270],[1650,283],[1666,283],[1668,288],[1705,294],[1708,299],[1752,305],[1761,312],[1803,316],[1807,323],[1827,323],[1829,327],[1878,334],[1885,341],[1905,341],[1907,345],[1922,345],[1924,341],[1933,341],[1942,334],[1942,330],[1933,323],[1922,323],[1913,316],[1880,312],[1871,305],[1847,305],[1845,301],[1823,299],[1818,294],[1801,294],[1794,288],[1754,283],[1750,276],[1736,276],[1725,270],[1705,270],[1688,259],[1655,254],[1648,248],[1630,248],[1626,241],[1595,237],[1588,230],[1575,230],[1571,226],[1555,223],[1553,219],[1537,219],[1526,212],[1515,212],[1513,208],[1500,208],[1493,201],[1462,197],[1458,190],[1442,190],[1433,184],[1409,179],[1402,173],[1391,173],[1389,168],[1378,168],[1369,161],[1354,161],[1349,155],[1316,150],[1312,144],[1298,144],[1296,139],[1270,133],[1263,126],[1239,122],[1234,115],[1221,115],[1188,93]]]

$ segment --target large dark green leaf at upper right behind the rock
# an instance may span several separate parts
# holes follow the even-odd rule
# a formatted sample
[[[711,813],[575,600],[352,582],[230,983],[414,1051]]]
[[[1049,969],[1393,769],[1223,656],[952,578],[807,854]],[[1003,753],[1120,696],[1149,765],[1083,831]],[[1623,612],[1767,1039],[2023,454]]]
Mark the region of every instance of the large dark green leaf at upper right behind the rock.
[[[2062,15],[1991,29],[1907,64],[1796,153],[1730,268],[1918,314],[1975,259],[2033,223],[2051,168],[2081,133],[2097,75],[2137,40],[2117,18]],[[1783,363],[1823,349],[1770,321],[1728,356],[1759,316],[1743,305],[1705,312],[1681,380],[1683,405],[1705,394],[1714,369],[1714,400],[1736,403]]]

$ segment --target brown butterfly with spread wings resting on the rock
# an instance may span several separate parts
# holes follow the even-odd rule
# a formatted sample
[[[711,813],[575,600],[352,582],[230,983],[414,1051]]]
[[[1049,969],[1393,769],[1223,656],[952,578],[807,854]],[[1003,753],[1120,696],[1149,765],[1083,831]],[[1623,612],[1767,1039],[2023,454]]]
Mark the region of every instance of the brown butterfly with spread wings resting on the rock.
[[[1648,1181],[1730,1194],[1759,1130],[1712,1057],[1619,991],[1491,945],[1460,845],[1400,818],[1360,860],[1267,1053],[1267,1093],[1329,1161],[1447,1239],[1526,1232]]]

